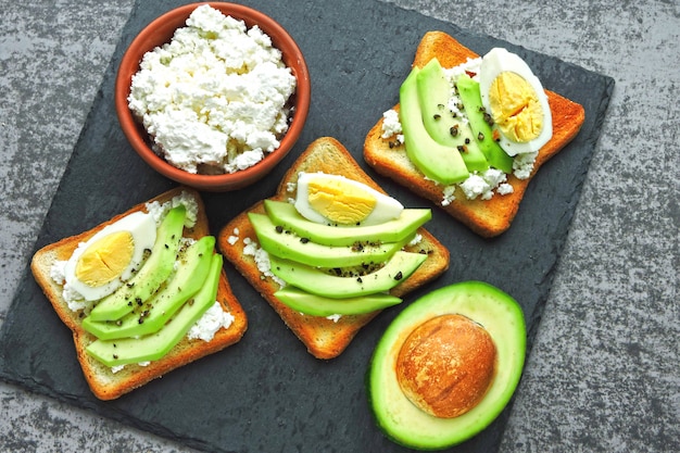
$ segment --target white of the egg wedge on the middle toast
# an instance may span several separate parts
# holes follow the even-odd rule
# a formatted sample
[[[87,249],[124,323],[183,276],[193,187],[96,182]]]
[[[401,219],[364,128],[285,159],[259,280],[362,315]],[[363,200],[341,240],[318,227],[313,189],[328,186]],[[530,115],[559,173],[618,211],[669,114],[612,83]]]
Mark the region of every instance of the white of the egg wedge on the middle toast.
[[[332,222],[324,216],[322,213],[316,211],[310,204],[308,193],[310,193],[310,180],[316,178],[325,178],[328,180],[333,179],[342,179],[344,183],[357,187],[361,190],[369,193],[376,200],[376,206],[374,210],[361,222],[362,225],[378,225],[385,222],[398,218],[404,206],[398,200],[392,197],[386,196],[377,191],[376,189],[366,186],[363,183],[356,181],[354,179],[345,178],[340,175],[330,175],[325,173],[305,173],[301,172],[298,175],[298,190],[295,196],[295,209],[298,212],[305,217],[307,221],[315,222],[317,224],[331,224]]]

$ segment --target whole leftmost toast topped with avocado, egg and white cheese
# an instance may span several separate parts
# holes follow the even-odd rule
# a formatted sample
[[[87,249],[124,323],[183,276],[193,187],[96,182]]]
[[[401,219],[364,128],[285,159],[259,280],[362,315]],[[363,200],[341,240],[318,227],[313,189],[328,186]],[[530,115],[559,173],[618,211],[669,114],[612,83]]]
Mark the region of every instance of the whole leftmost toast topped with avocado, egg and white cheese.
[[[191,205],[196,211],[176,203],[175,200],[179,199],[193,200]],[[179,204],[179,207],[159,210],[173,204]],[[162,226],[158,230],[155,230],[158,221],[153,221],[155,235],[152,236],[155,236],[158,241],[152,241],[151,253],[148,250],[143,251],[144,256],[148,256],[143,265],[138,268],[135,266],[131,269],[133,277],[106,297],[96,299],[98,295],[95,294],[95,299],[89,302],[80,298],[71,300],[70,289],[64,292],[64,284],[68,281],[67,275],[89,274],[89,278],[101,277],[102,270],[95,269],[96,266],[91,263],[105,261],[105,272],[115,267],[116,255],[121,255],[119,243],[109,246],[109,249],[115,252],[109,256],[103,251],[108,238],[115,234],[103,235],[103,239],[92,241],[97,239],[96,235],[101,236],[102,231],[108,231],[106,228],[121,225],[131,216],[151,215],[150,211],[164,217],[159,218]],[[189,217],[191,222],[188,221]],[[187,226],[185,222],[193,225]],[[164,228],[168,231],[163,232]],[[73,331],[83,373],[90,389],[100,400],[116,399],[172,369],[234,344],[243,336],[248,324],[245,313],[231,292],[222,268],[222,256],[214,253],[215,239],[210,236],[207,228],[207,218],[199,193],[179,187],[147,203],[140,203],[80,235],[46,246],[35,253],[30,266],[33,275],[61,320]],[[177,232],[182,239],[173,237],[177,236]],[[143,235],[137,235],[136,239],[141,241],[141,236]],[[175,240],[176,246],[169,244]],[[97,246],[101,250],[88,254],[88,249],[97,247],[88,248],[84,244]],[[178,248],[177,253],[173,251],[168,261],[163,254],[173,247]],[[185,250],[180,252],[179,249]],[[68,261],[76,252],[83,257],[77,260],[81,266],[80,274],[77,274],[77,266],[73,269],[68,266]],[[176,263],[177,256],[180,257],[181,264]],[[168,272],[167,268],[162,269],[168,264],[169,274],[163,278],[160,274]],[[60,267],[64,270],[58,272]],[[194,267],[191,275],[188,270],[182,270],[188,267]],[[158,285],[149,284],[154,278],[158,279],[156,284],[160,281],[160,289],[152,288]],[[70,288],[76,286],[75,280],[86,280],[85,277],[71,279],[73,281]],[[169,282],[178,285],[171,288]],[[88,292],[86,289],[81,291]],[[142,294],[144,291],[149,297]],[[126,294],[123,294],[124,292]],[[116,294],[123,294],[122,300],[125,300],[125,303],[117,303],[114,300]],[[199,310],[197,301],[200,298],[204,302]],[[128,303],[131,306],[128,306]],[[211,313],[221,313],[229,322],[218,328],[212,338],[189,338],[187,331],[207,311],[217,309],[215,306],[217,303],[222,310]],[[161,306],[165,306],[164,313],[160,313]],[[123,332],[123,329],[127,329],[127,332]],[[101,338],[98,339],[98,336]]]

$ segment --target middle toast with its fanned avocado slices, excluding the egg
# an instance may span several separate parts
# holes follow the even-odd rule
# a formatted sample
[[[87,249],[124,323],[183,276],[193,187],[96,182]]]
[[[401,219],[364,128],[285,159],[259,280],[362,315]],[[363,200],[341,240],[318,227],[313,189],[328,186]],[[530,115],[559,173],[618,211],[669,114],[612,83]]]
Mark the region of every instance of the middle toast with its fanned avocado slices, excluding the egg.
[[[408,213],[406,216],[412,217],[400,217],[387,226],[361,225],[360,229],[363,229],[364,234],[373,229],[374,235],[362,240],[353,237],[353,227],[305,222],[293,206],[292,199],[297,194],[300,174],[317,172],[325,175],[341,175],[385,193],[340,142],[330,137],[322,137],[312,142],[298,158],[272,198],[257,202],[242,212],[219,231],[217,244],[224,256],[272,305],[312,355],[317,358],[332,358],[344,351],[356,332],[381,309],[399,303],[401,297],[441,275],[449,267],[449,251],[421,226],[429,219],[429,210],[404,210],[404,213]],[[419,215],[421,217],[418,218]],[[307,229],[300,229],[300,226],[295,226],[297,222]],[[255,228],[267,223],[269,234],[257,235]],[[403,224],[396,226],[396,223]],[[417,225],[415,231],[406,226],[410,223],[412,227]],[[324,231],[329,228],[331,232]],[[297,232],[298,243],[291,247],[287,244],[289,230]],[[407,234],[400,236],[400,231]],[[269,240],[273,235],[274,239]],[[417,241],[413,241],[415,235]],[[267,247],[268,240],[272,242],[268,248],[276,255],[264,253],[266,259],[263,260],[262,244]],[[301,241],[305,242],[305,247],[300,246]],[[327,243],[316,243],[319,241]],[[323,253],[310,251],[312,249],[307,249],[306,246],[327,251]],[[353,253],[352,248],[357,246],[361,246],[362,251]],[[392,250],[386,251],[386,247]],[[343,256],[341,253],[350,256]],[[340,262],[345,265],[350,265],[350,260],[357,256],[360,266],[367,261],[378,260],[367,260],[362,253],[396,255],[404,262],[394,264],[398,267],[395,273],[386,268],[387,265],[381,267],[378,272],[383,275],[377,277],[378,281],[356,274],[341,275],[342,269],[330,264],[338,263],[335,260],[337,256],[343,256]],[[301,263],[305,261],[302,255],[307,255],[310,261],[306,264]],[[325,263],[327,259],[329,261]],[[356,262],[351,265],[356,265]],[[322,276],[318,267],[325,266],[330,266],[331,270],[337,269],[338,275]],[[377,273],[370,274],[375,276]],[[281,281],[291,276],[299,277],[294,285]],[[382,284],[387,286],[380,286]],[[360,289],[374,285],[375,288],[370,291]],[[306,288],[300,290],[300,286]],[[386,289],[388,287],[389,289]],[[317,291],[319,289],[320,291]],[[343,291],[345,295],[340,298],[339,293]],[[326,295],[319,297],[319,293],[324,292]],[[348,310],[352,304],[364,310],[356,307]],[[352,314],[342,314],[342,309]]]

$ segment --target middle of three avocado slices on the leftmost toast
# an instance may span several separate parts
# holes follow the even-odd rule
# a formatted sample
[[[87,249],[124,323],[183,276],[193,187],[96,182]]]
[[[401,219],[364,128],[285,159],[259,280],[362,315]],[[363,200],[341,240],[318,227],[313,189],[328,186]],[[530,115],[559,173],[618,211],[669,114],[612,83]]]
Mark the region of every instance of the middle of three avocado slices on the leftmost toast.
[[[187,248],[175,275],[156,293],[116,322],[86,317],[83,328],[100,340],[139,337],[160,330],[177,310],[201,289],[211,266],[213,236],[204,236]]]

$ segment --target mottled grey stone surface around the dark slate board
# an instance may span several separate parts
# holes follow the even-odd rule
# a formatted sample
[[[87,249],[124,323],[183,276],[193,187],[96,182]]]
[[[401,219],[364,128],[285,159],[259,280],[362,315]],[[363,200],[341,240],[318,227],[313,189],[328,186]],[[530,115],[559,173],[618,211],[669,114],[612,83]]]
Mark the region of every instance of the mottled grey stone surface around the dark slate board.
[[[398,0],[616,79],[502,450],[680,451],[677,1]],[[0,0],[0,322],[133,1]],[[188,451],[0,383],[0,451]]]

